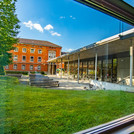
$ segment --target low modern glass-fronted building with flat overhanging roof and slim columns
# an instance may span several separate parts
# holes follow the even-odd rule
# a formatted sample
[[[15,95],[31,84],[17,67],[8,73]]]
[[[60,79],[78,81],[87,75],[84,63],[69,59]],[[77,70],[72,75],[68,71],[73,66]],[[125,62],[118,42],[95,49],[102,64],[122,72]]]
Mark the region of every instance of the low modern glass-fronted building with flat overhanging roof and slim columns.
[[[64,63],[68,77],[134,85],[134,29],[79,48],[48,62]],[[53,71],[55,72],[55,71]]]

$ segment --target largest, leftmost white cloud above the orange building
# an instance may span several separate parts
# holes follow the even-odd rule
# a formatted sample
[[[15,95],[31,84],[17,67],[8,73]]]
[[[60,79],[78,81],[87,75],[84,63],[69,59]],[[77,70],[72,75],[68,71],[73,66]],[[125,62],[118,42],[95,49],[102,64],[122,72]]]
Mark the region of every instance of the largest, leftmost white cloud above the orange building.
[[[23,22],[23,24],[26,27],[29,27],[30,29],[34,28],[34,29],[38,30],[39,32],[43,32],[42,26],[38,23],[32,23],[32,21],[28,21],[28,22]]]

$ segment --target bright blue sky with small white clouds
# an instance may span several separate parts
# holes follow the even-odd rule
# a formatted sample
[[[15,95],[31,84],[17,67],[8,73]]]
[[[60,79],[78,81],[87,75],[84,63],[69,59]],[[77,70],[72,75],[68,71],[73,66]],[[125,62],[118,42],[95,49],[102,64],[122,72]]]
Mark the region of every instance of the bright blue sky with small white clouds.
[[[134,0],[125,0],[134,5]],[[45,40],[69,52],[133,28],[74,0],[18,0],[19,38]]]

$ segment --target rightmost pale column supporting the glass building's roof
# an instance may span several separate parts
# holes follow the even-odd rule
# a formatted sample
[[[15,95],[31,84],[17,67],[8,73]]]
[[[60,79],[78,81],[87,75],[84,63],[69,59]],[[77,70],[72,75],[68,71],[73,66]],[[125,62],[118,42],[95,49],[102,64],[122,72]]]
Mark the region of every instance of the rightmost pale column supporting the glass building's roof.
[[[133,46],[130,47],[130,86],[133,85]]]

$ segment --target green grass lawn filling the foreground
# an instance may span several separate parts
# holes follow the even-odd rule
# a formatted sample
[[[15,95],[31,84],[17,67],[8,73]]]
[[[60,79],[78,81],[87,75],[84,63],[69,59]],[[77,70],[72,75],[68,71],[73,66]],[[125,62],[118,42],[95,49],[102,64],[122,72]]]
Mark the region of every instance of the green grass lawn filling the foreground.
[[[50,90],[0,77],[0,134],[70,134],[133,112],[133,93]]]

